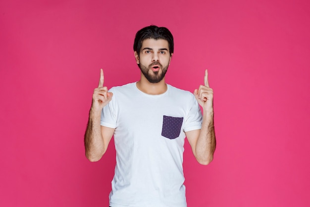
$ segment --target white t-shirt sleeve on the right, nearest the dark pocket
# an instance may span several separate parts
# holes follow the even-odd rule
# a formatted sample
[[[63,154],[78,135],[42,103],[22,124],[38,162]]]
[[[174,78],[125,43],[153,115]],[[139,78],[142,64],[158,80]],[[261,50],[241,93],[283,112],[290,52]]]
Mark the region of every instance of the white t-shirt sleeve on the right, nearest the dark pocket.
[[[203,116],[200,106],[195,98],[195,96],[190,93],[189,98],[189,111],[188,116],[185,120],[184,132],[189,132],[192,130],[200,130],[203,122]]]

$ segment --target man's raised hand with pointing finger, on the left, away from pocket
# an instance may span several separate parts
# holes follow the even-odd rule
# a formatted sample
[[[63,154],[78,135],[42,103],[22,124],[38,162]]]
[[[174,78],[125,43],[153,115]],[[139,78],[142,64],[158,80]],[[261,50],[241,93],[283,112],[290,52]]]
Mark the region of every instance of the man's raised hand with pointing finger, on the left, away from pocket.
[[[100,69],[100,79],[98,88],[95,88],[93,93],[92,110],[101,111],[105,105],[107,105],[113,96],[113,93],[107,92],[107,87],[103,87],[104,76],[103,69]]]

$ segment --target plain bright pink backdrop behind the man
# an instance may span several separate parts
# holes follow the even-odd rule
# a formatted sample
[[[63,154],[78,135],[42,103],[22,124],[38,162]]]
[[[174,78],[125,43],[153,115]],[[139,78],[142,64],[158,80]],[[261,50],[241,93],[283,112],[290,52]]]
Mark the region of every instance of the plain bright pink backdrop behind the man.
[[[1,0],[0,206],[107,207],[113,142],[89,162],[83,136],[100,68],[138,80],[137,30],[168,27],[167,82],[209,70],[217,149],[185,145],[189,207],[310,206],[309,0]]]

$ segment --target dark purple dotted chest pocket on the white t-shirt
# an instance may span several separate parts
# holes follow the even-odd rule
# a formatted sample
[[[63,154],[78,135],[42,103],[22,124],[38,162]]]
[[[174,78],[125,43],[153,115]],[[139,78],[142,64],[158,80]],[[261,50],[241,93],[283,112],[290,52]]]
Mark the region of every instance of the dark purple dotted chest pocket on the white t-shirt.
[[[183,117],[163,116],[161,136],[174,139],[180,136]]]

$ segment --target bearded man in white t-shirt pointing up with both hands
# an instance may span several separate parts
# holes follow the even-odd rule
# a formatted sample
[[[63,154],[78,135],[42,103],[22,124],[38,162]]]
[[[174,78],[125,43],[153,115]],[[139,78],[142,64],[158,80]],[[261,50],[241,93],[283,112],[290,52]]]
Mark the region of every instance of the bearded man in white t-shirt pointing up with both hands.
[[[186,207],[185,136],[201,164],[211,162],[215,150],[213,91],[207,70],[205,85],[194,95],[165,83],[173,55],[173,36],[165,27],[139,30],[134,55],[141,69],[138,82],[108,91],[101,69],[85,133],[86,156],[100,160],[114,135],[111,207]]]

